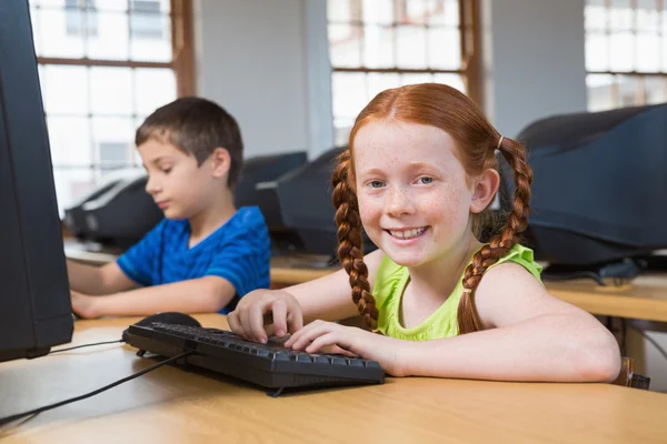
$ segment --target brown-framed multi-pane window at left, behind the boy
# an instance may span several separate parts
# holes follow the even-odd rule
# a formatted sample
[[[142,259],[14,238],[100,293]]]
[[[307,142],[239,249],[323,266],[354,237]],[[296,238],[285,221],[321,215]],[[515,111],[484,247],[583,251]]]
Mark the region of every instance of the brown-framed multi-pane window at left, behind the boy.
[[[142,119],[148,114],[148,110],[140,110],[139,105],[139,82],[142,81],[143,87],[146,88],[147,82],[146,79],[152,79],[158,75],[160,79],[172,78],[172,81],[169,83],[173,84],[172,91],[167,91],[165,95],[165,100],[157,104],[163,104],[167,100],[172,100],[176,97],[189,95],[193,93],[193,53],[192,53],[192,37],[191,37],[191,26],[192,26],[192,12],[191,12],[191,0],[162,0],[162,2],[157,1],[156,4],[162,9],[159,14],[155,17],[159,17],[158,20],[162,21],[163,29],[168,31],[168,33],[163,33],[161,40],[162,48],[169,48],[170,57],[165,58],[163,61],[153,61],[147,60],[138,57],[132,52],[131,46],[137,41],[137,38],[146,40],[155,40],[155,37],[147,36],[137,36],[135,39],[132,38],[133,30],[136,30],[136,22],[132,22],[132,17],[135,13],[142,14],[145,19],[153,19],[153,17],[149,17],[149,12],[146,10],[147,1],[135,1],[135,0],[125,0],[125,11],[122,11],[122,16],[127,18],[127,57],[123,59],[113,59],[110,58],[96,58],[90,57],[90,44],[89,39],[93,39],[99,37],[98,24],[100,13],[113,13],[117,17],[120,17],[120,11],[111,11],[104,8],[104,4],[111,4],[111,8],[118,8],[118,4],[122,0],[117,0],[118,3],[109,3],[104,1],[93,1],[93,0],[78,0],[78,1],[62,1],[61,4],[58,2],[49,1],[48,4],[43,0],[30,0],[30,8],[32,12],[32,28],[36,40],[36,52],[37,52],[37,61],[40,70],[40,79],[42,81],[42,98],[44,98],[44,105],[47,104],[47,98],[50,92],[57,92],[54,90],[61,89],[62,85],[59,84],[57,80],[52,80],[51,83],[48,84],[49,73],[56,71],[49,71],[54,69],[68,69],[72,70],[80,69],[82,71],[74,72],[71,71],[71,74],[76,74],[77,79],[86,79],[87,85],[84,88],[76,89],[76,91],[68,91],[66,93],[59,92],[57,94],[60,102],[67,101],[67,94],[77,103],[80,103],[81,107],[78,107],[73,110],[69,111],[49,111],[47,107],[44,107],[47,123],[52,123],[49,125],[49,137],[51,139],[51,157],[53,160],[53,173],[57,182],[57,191],[61,191],[59,194],[59,205],[61,209],[67,206],[72,199],[78,199],[82,192],[91,189],[100,181],[104,180],[104,176],[113,170],[127,170],[137,168],[139,162],[139,157],[133,150],[133,130],[138,124],[141,123]],[[152,2],[151,2],[152,3]],[[121,4],[121,8],[123,4]],[[153,11],[155,11],[155,6]],[[71,18],[68,16],[72,9],[77,9],[79,12],[79,17],[76,17],[74,20],[79,20],[79,31],[78,36],[71,34]],[[168,11],[167,11],[168,9]],[[53,32],[53,28],[58,29],[54,23],[58,20],[51,20],[51,22],[42,23],[43,17],[41,11],[47,11],[49,13],[49,19],[51,20],[57,14],[59,19],[62,20],[62,30],[60,31],[62,34],[68,38],[76,38],[76,44],[81,46],[81,56],[82,57],[61,57],[58,52],[49,52],[44,56],[44,50],[42,47],[42,41],[40,41],[42,33],[42,26],[51,27],[50,32]],[[94,32],[90,32],[91,29],[88,26],[89,13],[93,13],[94,16]],[[155,23],[153,23],[155,24]],[[53,34],[51,34],[53,36]],[[169,38],[170,36],[170,38]],[[168,39],[168,40],[165,40]],[[141,44],[141,43],[139,43]],[[159,43],[158,43],[159,44]],[[122,48],[123,44],[120,44]],[[41,48],[41,50],[40,50]],[[53,57],[54,56],[54,57]],[[140,56],[140,54],[139,54]],[[157,59],[159,60],[159,59]],[[84,71],[84,74],[83,74]],[[109,84],[109,89],[113,90],[118,88],[119,94],[127,94],[130,98],[131,103],[127,107],[127,110],[123,109],[122,112],[110,112],[109,110],[100,111],[99,103],[98,109],[96,110],[93,103],[93,77],[99,73],[100,78],[102,78],[101,72],[104,72],[104,75],[118,75],[130,79],[129,84],[126,82],[125,84],[129,87],[129,90],[122,91],[122,87],[118,88],[116,84]],[[67,72],[67,71],[63,71]],[[60,79],[62,80],[63,72],[60,74]],[[53,79],[56,79],[54,77]],[[143,79],[143,80],[140,80]],[[109,82],[116,83],[116,82]],[[67,83],[64,83],[67,84]],[[70,82],[71,84],[71,82]],[[116,92],[113,92],[116,94]],[[161,91],[152,91],[145,94],[146,98],[152,99],[152,102],[160,101]],[[84,105],[81,97],[86,97]],[[99,100],[98,100],[99,102]],[[62,109],[62,107],[58,107]],[[67,108],[67,107],[66,107]],[[70,107],[71,108],[71,107]],[[86,108],[83,110],[83,108]],[[146,108],[146,107],[143,107]],[[155,109],[155,107],[152,108]],[[152,111],[152,110],[151,110]],[[86,124],[83,124],[86,121]],[[123,131],[122,134],[109,134],[110,130],[104,129],[106,124],[111,128],[112,124],[120,124],[127,131]],[[59,127],[59,128],[56,128]],[[96,128],[98,131],[104,132],[107,135],[101,135],[101,133],[96,133]],[[77,139],[78,144],[87,144],[88,155],[87,159],[82,158],[81,161],[77,159],[79,155],[72,154],[74,152],[73,148],[71,149],[70,154],[63,152],[63,148],[58,148],[59,143],[53,143],[53,138],[58,137],[58,131],[60,131],[60,137],[68,131],[77,132],[80,134],[80,138]],[[54,132],[56,134],[52,134]],[[54,150],[56,145],[56,150]],[[61,145],[61,144],[60,144]],[[122,155],[119,154],[117,160],[109,163],[104,162],[103,157],[109,155],[110,147],[117,147],[119,150],[126,151]],[[68,147],[64,148],[64,151],[68,150]],[[102,154],[102,150],[107,150],[107,154]],[[56,152],[60,151],[60,152]],[[77,151],[79,152],[79,151]],[[74,155],[74,158],[72,158]],[[127,159],[127,162],[119,162],[119,159]],[[64,161],[62,161],[64,160]],[[72,162],[73,160],[73,162]],[[60,190],[59,190],[60,189]]]

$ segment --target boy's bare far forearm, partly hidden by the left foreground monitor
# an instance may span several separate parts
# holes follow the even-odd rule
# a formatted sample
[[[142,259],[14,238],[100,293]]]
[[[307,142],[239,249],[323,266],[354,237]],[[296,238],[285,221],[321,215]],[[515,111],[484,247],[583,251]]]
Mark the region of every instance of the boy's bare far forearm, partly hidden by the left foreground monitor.
[[[120,270],[116,262],[102,266],[67,260],[70,289],[86,294],[110,294],[135,289],[137,283]]]

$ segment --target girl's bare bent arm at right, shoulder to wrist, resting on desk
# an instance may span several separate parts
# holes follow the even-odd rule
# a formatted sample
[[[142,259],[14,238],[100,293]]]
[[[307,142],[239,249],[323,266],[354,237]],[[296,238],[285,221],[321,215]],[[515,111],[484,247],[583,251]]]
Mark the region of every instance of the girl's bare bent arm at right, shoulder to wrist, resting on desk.
[[[490,269],[475,292],[482,331],[451,339],[401,341],[405,375],[502,381],[614,381],[614,335],[587,312],[551,296],[521,265]]]

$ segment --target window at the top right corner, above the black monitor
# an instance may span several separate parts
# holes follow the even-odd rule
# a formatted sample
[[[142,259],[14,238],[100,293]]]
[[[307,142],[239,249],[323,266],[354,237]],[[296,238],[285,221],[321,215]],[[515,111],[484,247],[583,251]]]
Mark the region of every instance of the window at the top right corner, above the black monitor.
[[[667,1],[586,0],[588,109],[667,101]]]

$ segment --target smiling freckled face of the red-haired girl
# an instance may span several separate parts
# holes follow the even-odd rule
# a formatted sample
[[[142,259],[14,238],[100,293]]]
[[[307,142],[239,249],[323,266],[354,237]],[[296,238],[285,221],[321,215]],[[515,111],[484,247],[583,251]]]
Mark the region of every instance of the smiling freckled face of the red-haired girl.
[[[394,262],[437,260],[470,230],[472,191],[445,131],[374,121],[357,132],[352,154],[364,229]]]

